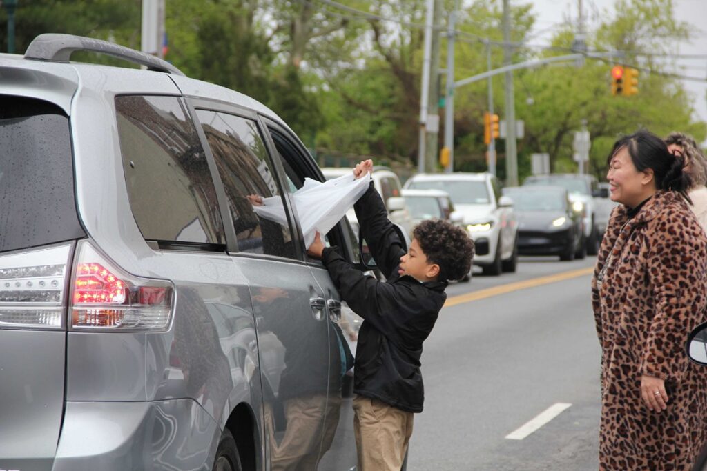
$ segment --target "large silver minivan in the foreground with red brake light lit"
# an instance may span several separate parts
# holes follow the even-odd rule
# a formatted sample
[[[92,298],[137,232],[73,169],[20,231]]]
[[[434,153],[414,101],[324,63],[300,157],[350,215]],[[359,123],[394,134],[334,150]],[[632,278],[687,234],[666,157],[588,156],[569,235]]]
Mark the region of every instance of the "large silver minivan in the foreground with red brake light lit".
[[[356,467],[341,298],[287,194],[324,179],[287,124],[84,37],[0,54],[0,77],[0,468]],[[359,260],[345,219],[327,240]]]

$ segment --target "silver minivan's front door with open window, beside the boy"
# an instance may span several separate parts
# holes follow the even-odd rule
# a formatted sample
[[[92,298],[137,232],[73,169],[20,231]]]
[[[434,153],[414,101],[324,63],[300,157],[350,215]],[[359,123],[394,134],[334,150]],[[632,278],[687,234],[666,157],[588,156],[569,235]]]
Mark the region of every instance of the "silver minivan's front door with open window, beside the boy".
[[[293,136],[276,124],[269,124],[268,128],[288,176],[286,186],[290,191],[300,188],[305,177],[321,179],[313,160]],[[350,260],[355,259],[354,235],[345,218],[329,234],[325,234],[325,242],[327,245],[339,246],[345,257]],[[313,259],[308,259],[308,265],[327,302],[326,322],[330,359],[327,383],[329,392],[325,423],[322,428],[322,458],[317,467],[312,469],[350,470],[356,467],[356,442],[352,404],[353,371],[348,371],[349,367],[353,366],[349,342],[351,338],[355,338],[356,332],[353,326],[346,323],[346,318],[341,317],[342,309],[347,309],[347,306],[342,302],[326,268],[320,261]],[[346,360],[347,357],[349,362]]]

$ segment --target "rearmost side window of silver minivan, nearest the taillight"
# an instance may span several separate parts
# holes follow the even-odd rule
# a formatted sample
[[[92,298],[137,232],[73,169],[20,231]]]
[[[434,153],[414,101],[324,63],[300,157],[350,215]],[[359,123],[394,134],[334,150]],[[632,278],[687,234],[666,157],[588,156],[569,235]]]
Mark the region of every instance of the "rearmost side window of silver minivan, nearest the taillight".
[[[214,181],[182,99],[119,96],[115,109],[130,206],[143,237],[168,248],[223,249]]]

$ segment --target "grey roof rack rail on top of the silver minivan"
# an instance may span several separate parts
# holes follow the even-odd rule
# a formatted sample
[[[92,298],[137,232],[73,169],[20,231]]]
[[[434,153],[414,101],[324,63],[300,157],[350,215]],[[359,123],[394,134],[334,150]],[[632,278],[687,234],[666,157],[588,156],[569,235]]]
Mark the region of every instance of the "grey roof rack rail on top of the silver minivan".
[[[44,34],[35,37],[25,52],[25,59],[37,61],[68,62],[71,54],[76,51],[90,51],[98,54],[115,56],[125,61],[146,66],[148,70],[173,73],[178,76],[185,74],[168,61],[156,56],[120,46],[112,42],[95,40],[90,37],[74,35]]]

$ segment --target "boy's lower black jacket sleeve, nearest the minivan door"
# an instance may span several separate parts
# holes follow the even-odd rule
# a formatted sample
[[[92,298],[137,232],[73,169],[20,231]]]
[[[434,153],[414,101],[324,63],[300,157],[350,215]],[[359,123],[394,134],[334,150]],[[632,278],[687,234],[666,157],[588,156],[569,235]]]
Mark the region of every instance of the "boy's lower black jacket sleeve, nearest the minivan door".
[[[393,340],[397,339],[399,328],[405,321],[401,309],[405,303],[402,299],[405,298],[404,291],[409,288],[364,275],[344,260],[337,247],[324,249],[322,261],[329,270],[329,276],[339,290],[341,299],[381,333]]]

